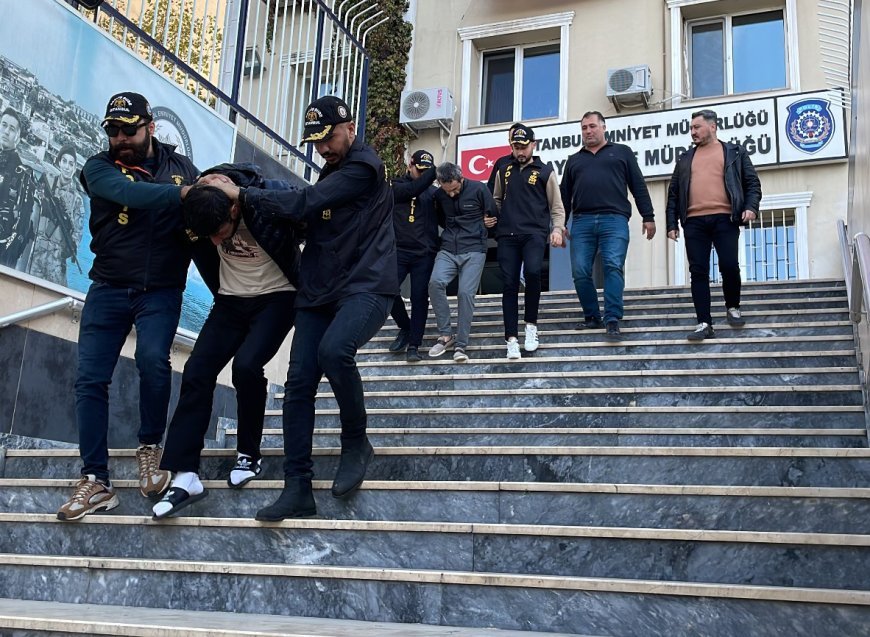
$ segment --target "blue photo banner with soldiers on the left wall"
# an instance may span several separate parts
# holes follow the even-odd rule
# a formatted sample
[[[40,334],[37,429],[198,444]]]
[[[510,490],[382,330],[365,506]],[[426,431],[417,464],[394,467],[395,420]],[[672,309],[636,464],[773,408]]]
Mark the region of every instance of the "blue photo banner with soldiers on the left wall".
[[[108,148],[109,98],[144,95],[155,136],[204,170],[230,161],[234,127],[58,0],[9,3],[0,20],[0,265],[86,292],[90,204],[78,175]],[[191,266],[180,327],[211,293]]]

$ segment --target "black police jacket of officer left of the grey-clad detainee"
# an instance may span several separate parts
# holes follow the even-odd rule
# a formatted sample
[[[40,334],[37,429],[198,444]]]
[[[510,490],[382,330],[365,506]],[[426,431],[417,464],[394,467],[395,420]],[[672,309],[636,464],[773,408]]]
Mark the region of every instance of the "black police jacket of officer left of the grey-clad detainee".
[[[417,179],[406,173],[393,180],[393,229],[396,248],[403,252],[422,256],[438,250],[433,181],[434,166]]]

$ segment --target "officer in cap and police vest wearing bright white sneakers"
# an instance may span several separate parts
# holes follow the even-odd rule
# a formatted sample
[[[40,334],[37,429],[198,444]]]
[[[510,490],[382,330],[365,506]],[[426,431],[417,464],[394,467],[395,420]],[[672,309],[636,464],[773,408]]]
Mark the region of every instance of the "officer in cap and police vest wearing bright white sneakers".
[[[565,234],[565,208],[553,169],[535,156],[535,132],[515,124],[511,133],[513,160],[496,176],[493,198],[499,209],[498,265],[504,290],[502,315],[507,357],[520,358],[519,291],[520,267],[525,275],[525,338],[527,352],[538,349],[538,305],[541,300],[541,270],[547,243],[562,247]]]

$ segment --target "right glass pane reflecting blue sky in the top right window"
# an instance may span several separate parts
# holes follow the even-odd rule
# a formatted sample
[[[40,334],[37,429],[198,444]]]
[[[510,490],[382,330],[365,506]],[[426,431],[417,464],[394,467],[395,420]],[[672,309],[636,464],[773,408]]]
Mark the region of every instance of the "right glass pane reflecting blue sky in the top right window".
[[[782,11],[737,16],[731,25],[734,92],[784,88],[785,27]]]

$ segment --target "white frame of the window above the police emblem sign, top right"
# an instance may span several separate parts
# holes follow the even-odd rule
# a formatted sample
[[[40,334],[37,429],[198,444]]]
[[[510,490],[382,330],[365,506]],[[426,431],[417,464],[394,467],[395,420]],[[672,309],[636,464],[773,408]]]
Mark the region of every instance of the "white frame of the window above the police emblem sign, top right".
[[[723,5],[725,0],[666,0],[668,10],[670,11],[670,58],[671,58],[671,95],[673,96],[672,106],[676,108],[683,101],[692,103],[709,103],[729,101],[732,99],[742,99],[749,95],[764,94],[788,94],[799,93],[800,87],[800,67],[798,58],[798,28],[797,28],[797,0],[779,0],[777,2],[765,2],[759,7],[754,7],[749,11],[738,11],[733,13],[716,11],[715,5]],[[695,7],[699,5],[710,5],[709,14],[705,17],[693,17],[685,19],[683,17],[683,9],[686,7]],[[717,18],[725,16],[740,16],[750,15],[753,13],[764,13],[766,11],[782,10],[783,12],[783,28],[785,29],[785,74],[786,86],[781,89],[768,89],[764,91],[753,91],[749,93],[732,93],[726,92],[723,95],[710,95],[707,97],[692,97],[686,90],[689,88],[689,25],[699,24],[703,22],[713,22]],[[730,28],[729,28],[730,31]],[[725,34],[726,40],[726,55],[730,56],[730,33]],[[730,60],[729,60],[730,63]],[[729,64],[730,66],[730,64]],[[730,84],[729,76],[733,75],[733,70],[726,68],[726,84]],[[727,88],[727,87],[726,87]]]

